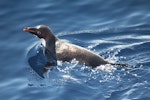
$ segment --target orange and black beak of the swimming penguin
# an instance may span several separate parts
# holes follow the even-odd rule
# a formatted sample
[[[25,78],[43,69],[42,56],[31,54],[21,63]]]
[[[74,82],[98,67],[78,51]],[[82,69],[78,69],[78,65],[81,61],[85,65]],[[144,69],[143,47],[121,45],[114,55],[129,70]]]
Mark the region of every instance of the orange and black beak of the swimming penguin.
[[[23,29],[24,32],[29,32],[33,35],[36,35],[37,37],[41,38],[41,32],[37,28],[32,27],[26,27]]]

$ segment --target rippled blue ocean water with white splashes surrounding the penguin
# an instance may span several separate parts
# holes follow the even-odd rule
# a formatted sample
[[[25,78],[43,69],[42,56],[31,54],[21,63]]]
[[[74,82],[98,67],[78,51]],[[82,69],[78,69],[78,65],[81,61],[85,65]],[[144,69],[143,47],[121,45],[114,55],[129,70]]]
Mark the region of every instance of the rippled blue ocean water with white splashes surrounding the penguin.
[[[1,0],[0,100],[149,100],[149,5],[149,0]],[[91,69],[72,60],[41,79],[27,62],[39,39],[22,31],[39,24],[130,66]]]

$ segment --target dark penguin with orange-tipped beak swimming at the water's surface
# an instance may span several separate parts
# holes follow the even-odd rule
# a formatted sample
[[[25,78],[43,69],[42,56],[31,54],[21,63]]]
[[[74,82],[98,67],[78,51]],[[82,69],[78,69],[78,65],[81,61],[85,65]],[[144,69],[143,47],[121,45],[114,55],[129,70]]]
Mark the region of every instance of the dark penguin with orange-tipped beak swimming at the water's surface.
[[[90,50],[58,39],[53,34],[52,30],[46,25],[26,27],[23,30],[44,41],[44,55],[48,59],[48,62],[43,67],[44,71],[49,70],[51,66],[56,66],[57,60],[69,62],[72,59],[76,59],[80,64],[90,66],[92,68],[105,64],[126,66],[126,64],[108,62]]]

